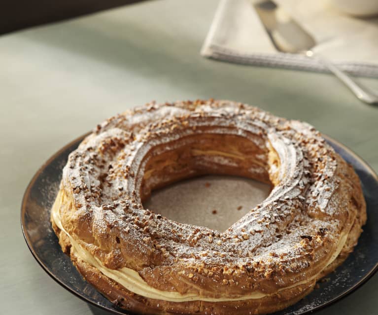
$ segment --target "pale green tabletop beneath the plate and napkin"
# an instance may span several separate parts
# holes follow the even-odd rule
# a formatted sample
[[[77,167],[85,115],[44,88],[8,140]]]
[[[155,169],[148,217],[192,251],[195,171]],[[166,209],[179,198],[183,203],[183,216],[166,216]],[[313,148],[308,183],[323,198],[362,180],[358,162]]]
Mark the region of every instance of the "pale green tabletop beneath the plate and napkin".
[[[160,0],[0,37],[0,314],[107,314],[29,252],[23,192],[41,164],[98,122],[147,101],[241,101],[309,122],[378,170],[378,107],[333,76],[199,55],[217,0]],[[361,79],[378,90],[378,80]],[[318,314],[378,314],[378,276]]]

